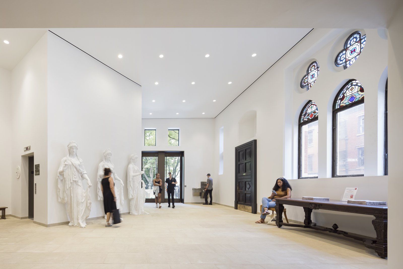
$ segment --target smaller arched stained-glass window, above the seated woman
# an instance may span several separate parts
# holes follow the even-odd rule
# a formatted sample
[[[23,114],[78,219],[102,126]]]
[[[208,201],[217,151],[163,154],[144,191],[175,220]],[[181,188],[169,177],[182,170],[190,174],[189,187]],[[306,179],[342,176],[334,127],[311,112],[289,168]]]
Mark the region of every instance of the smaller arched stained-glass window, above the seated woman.
[[[318,106],[312,100],[301,110],[298,133],[298,178],[318,177]]]

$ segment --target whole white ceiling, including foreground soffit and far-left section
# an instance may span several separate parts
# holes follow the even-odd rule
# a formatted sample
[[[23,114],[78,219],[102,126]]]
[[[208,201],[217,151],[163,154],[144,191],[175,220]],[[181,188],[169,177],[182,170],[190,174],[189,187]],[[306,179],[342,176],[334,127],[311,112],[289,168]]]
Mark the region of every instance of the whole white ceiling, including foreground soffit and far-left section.
[[[401,0],[281,4],[276,0],[14,0],[2,3],[0,28],[52,29],[141,84],[143,118],[215,117],[311,28],[385,28],[399,4]],[[305,29],[295,29],[299,27]],[[0,29],[0,39],[10,39],[8,47],[0,40],[0,67],[12,69],[44,29]],[[119,53],[122,59],[117,58]],[[207,53],[209,58],[204,57]],[[252,53],[257,56],[251,57]]]

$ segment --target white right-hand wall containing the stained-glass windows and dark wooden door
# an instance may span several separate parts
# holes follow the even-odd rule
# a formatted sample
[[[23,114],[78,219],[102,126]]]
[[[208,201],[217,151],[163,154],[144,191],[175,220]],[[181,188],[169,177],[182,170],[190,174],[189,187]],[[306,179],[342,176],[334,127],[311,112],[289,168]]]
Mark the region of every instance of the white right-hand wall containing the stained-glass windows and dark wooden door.
[[[387,200],[387,177],[377,177],[383,171],[378,166],[382,153],[378,150],[378,126],[383,129],[383,103],[378,100],[378,85],[386,81],[387,40],[377,30],[366,29],[366,46],[358,60],[348,69],[336,69],[334,58],[342,48],[345,39],[355,29],[314,29],[297,46],[288,52],[276,65],[226,108],[217,118],[214,133],[218,137],[224,126],[224,174],[218,176],[220,184],[233,186],[235,177],[234,148],[249,140],[257,139],[257,189],[260,198],[268,196],[276,178],[291,179],[293,197],[302,195],[328,196],[340,199],[346,187],[357,187],[357,199]],[[320,73],[315,85],[309,91],[299,88],[299,81],[312,60],[318,60]],[[365,177],[331,177],[331,106],[334,96],[348,79],[358,79],[365,90]],[[382,81],[383,80],[383,81]],[[384,88],[380,88],[380,91]],[[381,97],[379,97],[381,98]],[[297,178],[297,117],[307,100],[314,100],[319,109],[319,178]],[[238,121],[247,111],[257,111],[256,137],[239,140]],[[214,150],[215,172],[218,171],[218,143]],[[295,180],[292,180],[295,179]],[[233,188],[233,187],[231,187]],[[216,202],[233,206],[234,193],[218,189]],[[314,191],[316,190],[316,191]],[[309,194],[308,194],[309,192]],[[302,209],[289,206],[289,219],[303,221]],[[324,216],[326,215],[326,220]],[[374,229],[368,217],[340,217],[340,214],[317,211],[313,214],[318,225],[337,223],[341,229],[374,236]],[[360,227],[351,225],[352,218],[362,220]],[[258,216],[256,216],[258,218]]]

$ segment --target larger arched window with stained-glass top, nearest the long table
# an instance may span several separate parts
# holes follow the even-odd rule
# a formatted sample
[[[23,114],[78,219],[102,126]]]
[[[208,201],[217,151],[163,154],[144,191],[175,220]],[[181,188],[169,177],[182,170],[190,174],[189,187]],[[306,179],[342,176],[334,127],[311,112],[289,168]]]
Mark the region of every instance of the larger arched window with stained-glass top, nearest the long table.
[[[364,88],[343,85],[333,103],[333,177],[364,175]]]

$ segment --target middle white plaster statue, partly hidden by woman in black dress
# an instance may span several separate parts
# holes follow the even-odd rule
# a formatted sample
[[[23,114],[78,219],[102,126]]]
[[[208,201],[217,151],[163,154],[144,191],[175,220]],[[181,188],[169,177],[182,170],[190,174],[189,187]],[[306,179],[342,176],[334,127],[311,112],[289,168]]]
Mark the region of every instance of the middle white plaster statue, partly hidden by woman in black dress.
[[[107,167],[107,168],[110,168],[110,170],[112,171],[113,182],[115,182],[116,180],[118,180],[120,182],[120,187],[118,187],[118,186],[115,187],[116,209],[119,209],[120,205],[123,205],[123,202],[125,201],[123,198],[123,186],[125,186],[125,185],[123,184],[122,179],[120,179],[118,177],[118,175],[116,175],[115,166],[112,163],[112,161],[110,160],[111,157],[112,157],[112,151],[108,148],[107,150],[104,151],[104,161],[102,161],[98,165],[98,179],[97,179],[98,201],[104,200],[104,196],[103,196],[102,190],[101,190],[101,181],[102,181],[102,178],[104,177],[104,169],[105,169],[105,167]]]

